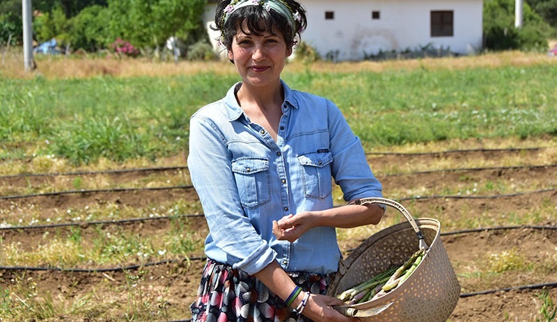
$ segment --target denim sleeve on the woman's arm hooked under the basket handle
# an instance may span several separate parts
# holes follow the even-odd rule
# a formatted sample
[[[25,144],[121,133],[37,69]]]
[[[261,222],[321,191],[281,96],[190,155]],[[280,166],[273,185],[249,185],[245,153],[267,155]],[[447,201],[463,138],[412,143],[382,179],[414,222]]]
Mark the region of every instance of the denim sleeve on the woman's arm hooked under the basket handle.
[[[329,135],[333,153],[332,175],[344,200],[382,197],[382,185],[366,160],[360,139],[354,135],[338,107],[328,101]]]

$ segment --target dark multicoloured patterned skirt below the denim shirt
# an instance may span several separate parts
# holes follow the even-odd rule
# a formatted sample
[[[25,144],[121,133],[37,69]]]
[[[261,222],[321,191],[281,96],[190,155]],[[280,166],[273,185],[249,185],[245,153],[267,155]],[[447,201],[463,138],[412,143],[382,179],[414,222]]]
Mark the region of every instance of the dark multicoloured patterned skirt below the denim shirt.
[[[304,291],[327,293],[332,274],[288,273]],[[192,322],[311,322],[270,291],[255,276],[207,259]]]

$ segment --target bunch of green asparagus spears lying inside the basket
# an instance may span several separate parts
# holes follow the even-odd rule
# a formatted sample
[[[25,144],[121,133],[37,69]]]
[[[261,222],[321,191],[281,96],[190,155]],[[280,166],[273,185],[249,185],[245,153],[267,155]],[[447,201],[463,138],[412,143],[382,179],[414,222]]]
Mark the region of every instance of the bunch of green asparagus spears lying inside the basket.
[[[384,296],[407,280],[416,266],[421,263],[423,255],[425,255],[425,251],[418,250],[402,266],[386,269],[369,280],[343,291],[337,298],[343,300],[347,305],[354,305]]]

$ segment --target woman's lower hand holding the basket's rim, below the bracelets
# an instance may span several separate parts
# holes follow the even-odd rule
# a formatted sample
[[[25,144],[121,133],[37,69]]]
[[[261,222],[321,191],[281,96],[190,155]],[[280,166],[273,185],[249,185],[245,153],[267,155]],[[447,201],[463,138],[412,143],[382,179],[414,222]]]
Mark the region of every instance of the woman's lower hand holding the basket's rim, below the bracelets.
[[[303,293],[300,294],[303,296]],[[311,294],[304,308],[304,314],[315,322],[359,322],[360,319],[340,314],[334,305],[345,305],[342,300],[331,296]]]

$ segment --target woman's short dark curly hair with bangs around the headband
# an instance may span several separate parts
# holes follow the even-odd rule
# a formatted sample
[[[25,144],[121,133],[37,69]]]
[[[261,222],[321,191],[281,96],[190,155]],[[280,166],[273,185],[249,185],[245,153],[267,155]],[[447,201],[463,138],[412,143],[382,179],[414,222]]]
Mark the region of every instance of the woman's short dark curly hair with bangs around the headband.
[[[246,22],[247,31],[253,35],[262,35],[265,32],[280,31],[288,47],[297,45],[300,39],[300,33],[306,29],[307,19],[306,10],[300,3],[294,0],[271,0],[280,1],[290,12],[297,13],[298,19],[295,19],[295,28],[292,28],[288,17],[276,12],[275,10],[267,10],[263,6],[245,6],[238,8],[230,14],[226,22],[223,19],[224,10],[232,0],[220,0],[217,4],[217,10],[214,15],[214,31],[221,32],[221,43],[230,50],[232,41],[242,24]],[[246,32],[246,31],[244,31]],[[246,32],[247,33],[247,32]]]

